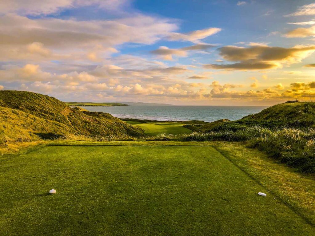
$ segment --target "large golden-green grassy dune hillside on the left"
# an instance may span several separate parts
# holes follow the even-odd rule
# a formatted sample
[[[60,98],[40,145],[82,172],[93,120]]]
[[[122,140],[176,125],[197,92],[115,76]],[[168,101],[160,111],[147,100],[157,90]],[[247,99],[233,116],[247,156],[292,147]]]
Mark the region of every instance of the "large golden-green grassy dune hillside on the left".
[[[139,137],[143,131],[108,113],[70,108],[43,94],[7,90],[0,91],[0,134],[11,139],[35,134],[40,138],[81,135],[102,140]]]

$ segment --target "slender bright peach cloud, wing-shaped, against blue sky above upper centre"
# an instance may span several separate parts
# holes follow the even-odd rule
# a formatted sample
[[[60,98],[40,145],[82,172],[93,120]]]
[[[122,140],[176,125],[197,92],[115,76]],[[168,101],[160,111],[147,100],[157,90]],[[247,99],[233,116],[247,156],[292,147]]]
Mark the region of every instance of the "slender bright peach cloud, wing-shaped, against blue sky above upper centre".
[[[208,28],[204,30],[196,30],[188,33],[170,33],[167,37],[170,41],[190,41],[190,42],[199,42],[200,39],[204,39],[211,35],[214,35],[220,32],[220,28]]]

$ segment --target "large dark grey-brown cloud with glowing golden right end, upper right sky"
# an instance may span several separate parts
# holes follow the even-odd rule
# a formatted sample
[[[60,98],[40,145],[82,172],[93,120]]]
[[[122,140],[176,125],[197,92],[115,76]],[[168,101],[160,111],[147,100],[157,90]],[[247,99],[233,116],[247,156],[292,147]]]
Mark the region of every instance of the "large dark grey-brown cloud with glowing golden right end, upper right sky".
[[[206,64],[207,69],[226,70],[266,70],[282,65],[301,62],[315,51],[315,46],[281,48],[269,46],[251,46],[249,48],[225,46],[218,48],[219,54],[233,64]]]

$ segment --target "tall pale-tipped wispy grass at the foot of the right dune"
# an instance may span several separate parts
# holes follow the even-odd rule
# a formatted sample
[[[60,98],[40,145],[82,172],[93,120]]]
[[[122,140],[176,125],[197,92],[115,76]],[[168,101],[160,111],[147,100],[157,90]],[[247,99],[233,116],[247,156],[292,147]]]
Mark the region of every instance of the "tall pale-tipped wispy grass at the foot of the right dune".
[[[242,130],[221,130],[215,132],[192,132],[190,134],[159,134],[146,140],[159,141],[247,141],[252,148],[264,151],[270,157],[294,167],[304,173],[315,173],[315,130],[277,128],[260,126]]]

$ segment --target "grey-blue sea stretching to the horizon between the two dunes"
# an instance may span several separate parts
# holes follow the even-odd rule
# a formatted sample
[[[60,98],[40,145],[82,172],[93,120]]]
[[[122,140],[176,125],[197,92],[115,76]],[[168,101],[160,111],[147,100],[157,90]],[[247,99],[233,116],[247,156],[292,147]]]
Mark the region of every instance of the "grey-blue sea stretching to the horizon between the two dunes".
[[[82,107],[88,111],[107,112],[118,118],[135,118],[157,121],[235,121],[255,114],[268,106],[114,106]]]

